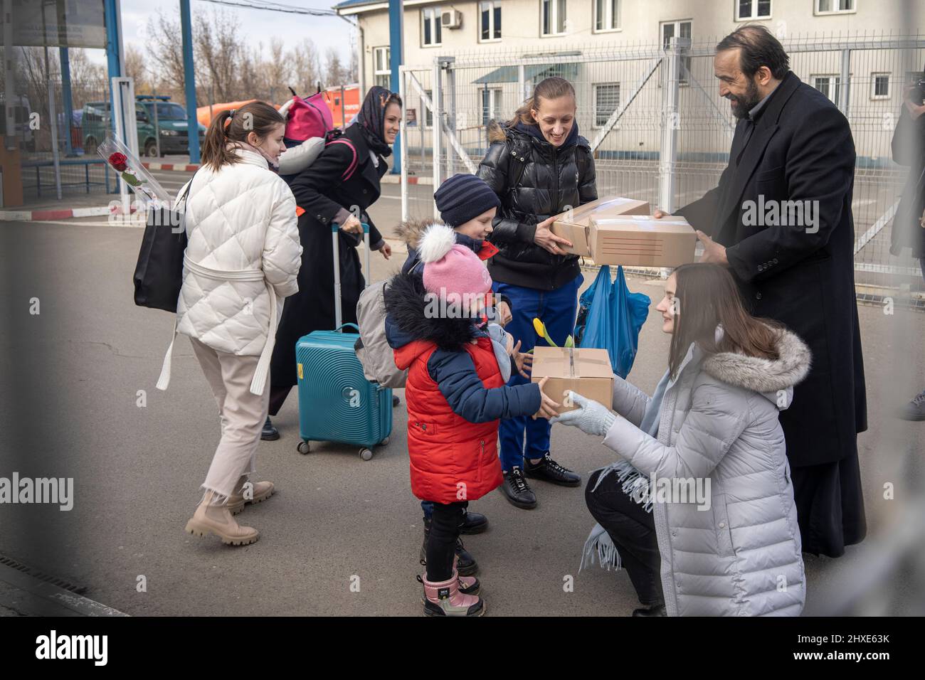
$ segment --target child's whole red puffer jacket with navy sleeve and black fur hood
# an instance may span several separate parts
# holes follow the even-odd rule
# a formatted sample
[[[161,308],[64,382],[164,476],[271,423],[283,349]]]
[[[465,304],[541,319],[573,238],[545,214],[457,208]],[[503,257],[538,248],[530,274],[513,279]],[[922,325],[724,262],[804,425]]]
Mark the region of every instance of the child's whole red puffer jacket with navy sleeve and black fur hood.
[[[420,275],[383,291],[386,338],[408,368],[411,488],[422,501],[475,501],[499,486],[499,418],[539,410],[536,383],[505,385],[491,340],[471,319],[427,313]]]

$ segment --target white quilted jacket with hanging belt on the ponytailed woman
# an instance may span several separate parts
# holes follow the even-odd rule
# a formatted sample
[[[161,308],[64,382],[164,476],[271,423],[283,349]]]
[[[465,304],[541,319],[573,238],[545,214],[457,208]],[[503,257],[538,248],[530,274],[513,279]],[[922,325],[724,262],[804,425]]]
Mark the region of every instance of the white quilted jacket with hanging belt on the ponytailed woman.
[[[268,355],[276,336],[270,328],[274,307],[278,324],[282,299],[299,291],[296,204],[263,156],[236,153],[240,163],[217,171],[203,166],[192,179],[177,332],[218,352]],[[170,351],[161,389],[169,381],[169,359]],[[263,382],[256,378],[252,391],[261,393]]]

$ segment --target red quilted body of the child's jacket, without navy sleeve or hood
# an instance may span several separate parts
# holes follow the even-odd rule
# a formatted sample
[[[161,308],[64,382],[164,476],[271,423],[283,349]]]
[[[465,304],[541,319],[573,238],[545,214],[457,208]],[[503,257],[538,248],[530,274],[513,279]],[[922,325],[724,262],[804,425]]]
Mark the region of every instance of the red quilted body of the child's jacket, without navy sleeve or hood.
[[[498,460],[498,420],[470,423],[453,413],[427,363],[437,345],[415,340],[395,352],[399,368],[408,367],[408,453],[411,490],[422,501],[475,501],[502,480]],[[466,346],[475,374],[487,389],[504,385],[491,340]]]

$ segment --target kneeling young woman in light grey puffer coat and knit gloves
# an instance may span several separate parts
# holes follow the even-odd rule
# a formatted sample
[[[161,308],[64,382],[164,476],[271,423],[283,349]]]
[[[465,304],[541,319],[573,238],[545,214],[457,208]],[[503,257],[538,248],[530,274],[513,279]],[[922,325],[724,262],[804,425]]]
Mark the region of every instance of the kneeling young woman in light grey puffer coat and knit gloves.
[[[552,421],[620,456],[588,480],[586,558],[623,563],[636,616],[796,616],[806,577],[778,412],[809,350],[748,315],[722,266],[678,267],[656,309],[672,344],[655,394],[614,377],[616,414],[573,394]]]

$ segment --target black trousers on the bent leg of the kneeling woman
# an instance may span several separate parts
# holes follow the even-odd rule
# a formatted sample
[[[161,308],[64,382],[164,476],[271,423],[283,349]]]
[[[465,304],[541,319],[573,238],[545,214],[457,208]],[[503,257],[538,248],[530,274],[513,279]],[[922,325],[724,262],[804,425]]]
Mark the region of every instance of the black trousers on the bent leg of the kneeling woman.
[[[655,518],[623,493],[616,473],[605,476],[600,486],[591,491],[598,483],[598,476],[599,471],[587,480],[587,509],[598,524],[607,529],[639,601],[647,607],[661,604],[664,596],[661,592],[661,557],[655,537]]]

